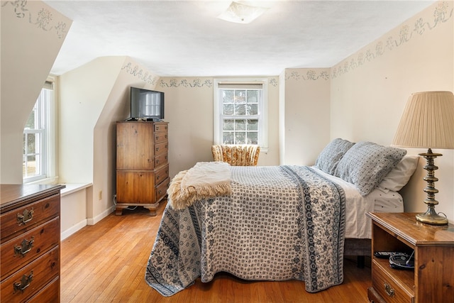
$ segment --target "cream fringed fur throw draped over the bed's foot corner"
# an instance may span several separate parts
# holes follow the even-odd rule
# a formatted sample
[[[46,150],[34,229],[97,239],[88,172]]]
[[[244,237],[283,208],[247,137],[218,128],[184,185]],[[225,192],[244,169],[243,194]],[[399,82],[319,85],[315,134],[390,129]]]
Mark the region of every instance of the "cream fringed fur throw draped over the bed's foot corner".
[[[179,172],[167,189],[172,209],[184,209],[196,200],[231,194],[230,165],[226,162],[197,162]]]

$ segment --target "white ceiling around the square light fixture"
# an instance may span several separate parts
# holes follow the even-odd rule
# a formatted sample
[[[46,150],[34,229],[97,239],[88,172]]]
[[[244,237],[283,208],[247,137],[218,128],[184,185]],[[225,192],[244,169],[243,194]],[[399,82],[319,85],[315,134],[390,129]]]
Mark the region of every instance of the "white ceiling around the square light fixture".
[[[52,73],[128,55],[162,77],[279,75],[332,67],[434,1],[247,1],[249,24],[216,18],[231,1],[45,1],[73,23]]]

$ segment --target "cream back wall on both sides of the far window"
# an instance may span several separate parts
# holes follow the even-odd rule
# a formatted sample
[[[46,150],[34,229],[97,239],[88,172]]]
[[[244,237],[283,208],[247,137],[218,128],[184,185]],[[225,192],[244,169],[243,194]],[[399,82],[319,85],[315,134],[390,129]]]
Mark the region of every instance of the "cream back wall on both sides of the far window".
[[[277,77],[267,79],[268,150],[260,152],[258,165],[278,165],[279,85]],[[169,122],[170,177],[189,169],[196,162],[213,160],[214,78],[162,77],[156,89],[165,92],[164,120]]]

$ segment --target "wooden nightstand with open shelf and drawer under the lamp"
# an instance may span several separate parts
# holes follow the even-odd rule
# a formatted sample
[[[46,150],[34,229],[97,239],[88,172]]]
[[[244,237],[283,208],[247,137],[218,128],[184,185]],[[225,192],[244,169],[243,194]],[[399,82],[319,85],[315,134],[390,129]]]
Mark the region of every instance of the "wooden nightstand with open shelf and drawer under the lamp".
[[[369,213],[372,219],[370,302],[454,302],[454,225],[416,221],[414,213]],[[377,251],[414,251],[414,270],[391,268]]]

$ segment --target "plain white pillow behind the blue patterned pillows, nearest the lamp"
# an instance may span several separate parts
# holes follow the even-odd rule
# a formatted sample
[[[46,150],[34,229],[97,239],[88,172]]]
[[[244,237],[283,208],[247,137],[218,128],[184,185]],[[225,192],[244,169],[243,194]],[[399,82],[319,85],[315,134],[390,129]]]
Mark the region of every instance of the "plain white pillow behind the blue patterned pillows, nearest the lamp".
[[[418,167],[419,155],[405,155],[389,174],[378,184],[380,189],[397,192],[409,182]]]

